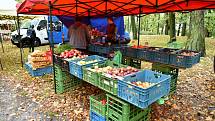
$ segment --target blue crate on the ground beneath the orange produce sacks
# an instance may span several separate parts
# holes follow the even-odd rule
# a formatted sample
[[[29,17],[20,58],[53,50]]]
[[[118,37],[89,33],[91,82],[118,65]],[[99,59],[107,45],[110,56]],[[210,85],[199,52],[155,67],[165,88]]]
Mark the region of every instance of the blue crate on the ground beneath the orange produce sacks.
[[[30,63],[26,63],[25,68],[28,71],[28,73],[33,77],[43,76],[45,74],[51,74],[53,72],[52,66],[48,66],[45,68],[38,68],[36,70],[33,70],[32,65]]]

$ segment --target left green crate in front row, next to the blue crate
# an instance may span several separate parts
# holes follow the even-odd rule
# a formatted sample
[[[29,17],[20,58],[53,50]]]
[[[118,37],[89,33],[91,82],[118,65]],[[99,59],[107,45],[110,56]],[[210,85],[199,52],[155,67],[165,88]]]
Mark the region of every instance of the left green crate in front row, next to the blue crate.
[[[94,86],[99,86],[99,79],[99,73],[93,72],[89,68],[83,68],[83,80]]]

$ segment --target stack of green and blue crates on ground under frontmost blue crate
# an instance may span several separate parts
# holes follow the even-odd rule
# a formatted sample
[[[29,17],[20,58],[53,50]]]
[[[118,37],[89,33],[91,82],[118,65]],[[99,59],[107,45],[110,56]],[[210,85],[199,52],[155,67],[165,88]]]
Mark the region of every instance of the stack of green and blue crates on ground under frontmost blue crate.
[[[151,107],[141,109],[113,95],[90,97],[91,121],[149,121]]]

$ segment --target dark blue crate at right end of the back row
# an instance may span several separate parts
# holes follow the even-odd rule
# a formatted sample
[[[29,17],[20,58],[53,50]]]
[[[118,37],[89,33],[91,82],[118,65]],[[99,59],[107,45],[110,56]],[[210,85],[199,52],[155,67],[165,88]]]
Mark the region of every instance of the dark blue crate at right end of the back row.
[[[194,56],[181,55],[183,52],[194,52]],[[181,50],[176,54],[170,55],[170,64],[182,68],[191,68],[193,65],[200,62],[201,53],[191,50]]]

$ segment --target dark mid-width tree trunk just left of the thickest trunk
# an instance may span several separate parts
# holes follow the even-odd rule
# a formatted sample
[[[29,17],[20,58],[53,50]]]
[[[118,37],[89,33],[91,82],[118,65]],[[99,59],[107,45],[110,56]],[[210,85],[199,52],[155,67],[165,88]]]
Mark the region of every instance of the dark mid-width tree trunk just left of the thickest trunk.
[[[169,13],[169,35],[170,43],[176,41],[175,13]]]

